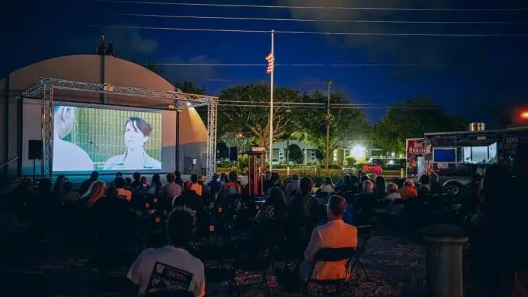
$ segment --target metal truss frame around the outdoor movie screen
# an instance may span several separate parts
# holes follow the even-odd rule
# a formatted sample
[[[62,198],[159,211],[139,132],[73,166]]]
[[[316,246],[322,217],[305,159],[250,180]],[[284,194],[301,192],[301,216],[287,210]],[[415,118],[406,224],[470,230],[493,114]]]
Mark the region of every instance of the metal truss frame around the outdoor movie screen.
[[[54,89],[85,91],[99,94],[135,96],[140,98],[160,98],[172,100],[169,104],[157,108],[166,110],[188,109],[189,107],[207,106],[207,151],[206,177],[212,177],[217,170],[217,110],[218,97],[187,94],[177,91],[162,91],[122,85],[89,83],[80,80],[60,78],[43,78],[22,91],[23,98],[41,98],[41,137],[43,140],[43,159],[41,176],[52,176],[53,168],[53,110]],[[149,107],[147,104],[142,107]]]

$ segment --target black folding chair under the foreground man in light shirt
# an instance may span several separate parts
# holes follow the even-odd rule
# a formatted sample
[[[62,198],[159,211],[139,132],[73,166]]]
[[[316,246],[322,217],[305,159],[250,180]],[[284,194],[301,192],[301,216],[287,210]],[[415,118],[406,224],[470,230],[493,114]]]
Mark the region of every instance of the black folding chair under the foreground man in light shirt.
[[[316,283],[318,285],[322,285],[325,287],[325,292],[327,294],[327,286],[336,286],[336,295],[338,296],[341,292],[342,285],[347,281],[347,278],[338,278],[338,279],[331,279],[331,280],[319,280],[317,278],[314,278],[312,274],[314,274],[314,270],[316,268],[316,264],[319,262],[338,262],[343,260],[348,260],[345,267],[348,267],[350,264],[350,261],[354,258],[355,255],[355,248],[322,248],[318,250],[316,255],[314,256],[314,266],[311,267],[310,274],[308,276],[308,281],[305,283],[305,286],[303,288],[303,296],[307,296],[308,287],[311,283]],[[352,271],[352,270],[351,270]]]

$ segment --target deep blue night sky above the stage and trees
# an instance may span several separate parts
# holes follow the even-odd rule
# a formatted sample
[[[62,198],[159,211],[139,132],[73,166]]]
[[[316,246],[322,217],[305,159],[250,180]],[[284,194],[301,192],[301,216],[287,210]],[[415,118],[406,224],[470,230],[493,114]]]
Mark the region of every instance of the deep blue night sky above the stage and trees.
[[[162,1],[162,0],[159,0]],[[165,1],[165,0],[163,0]],[[219,8],[94,1],[11,1],[2,4],[3,56],[0,77],[56,56],[94,54],[100,34],[113,41],[119,58],[153,63],[265,64],[270,34],[138,30],[111,26],[208,28],[303,32],[404,34],[525,34],[525,36],[328,36],[276,34],[278,64],[415,64],[418,66],[276,67],[276,86],[299,91],[333,89],[357,103],[391,104],[430,97],[448,113],[496,124],[498,114],[528,101],[528,2],[454,0],[188,0],[358,8],[521,8],[516,11],[305,10]],[[173,1],[177,2],[177,1]],[[180,1],[184,2],[184,1]],[[463,5],[463,6],[462,6]],[[361,19],[371,21],[507,22],[478,24],[318,23],[132,17],[113,14],[163,14],[282,19]],[[447,65],[463,64],[463,65]],[[187,79],[209,94],[242,83],[269,80],[261,67],[166,66],[174,83]],[[366,109],[371,121],[382,108]]]

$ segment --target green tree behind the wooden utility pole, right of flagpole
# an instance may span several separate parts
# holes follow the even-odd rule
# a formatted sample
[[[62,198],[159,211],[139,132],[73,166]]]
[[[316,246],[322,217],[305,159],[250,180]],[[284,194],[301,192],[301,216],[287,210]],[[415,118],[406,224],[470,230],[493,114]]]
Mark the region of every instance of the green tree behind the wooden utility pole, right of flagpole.
[[[327,103],[327,96],[320,91],[303,95],[303,102]],[[331,94],[331,104],[350,103],[342,94]],[[330,123],[329,152],[338,148],[347,147],[351,142],[363,140],[369,129],[366,115],[360,109],[333,108],[331,117],[327,117],[327,110],[307,107],[300,109],[294,118],[294,136],[303,140],[318,151],[326,152],[327,148],[327,122]],[[325,158],[323,157],[322,160]]]

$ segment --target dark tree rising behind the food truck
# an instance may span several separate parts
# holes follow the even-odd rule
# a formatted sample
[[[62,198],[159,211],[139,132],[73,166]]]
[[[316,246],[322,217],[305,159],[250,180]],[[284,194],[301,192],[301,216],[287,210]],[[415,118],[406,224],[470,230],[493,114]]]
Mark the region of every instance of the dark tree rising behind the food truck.
[[[445,115],[429,98],[407,100],[389,107],[369,134],[373,146],[385,151],[405,153],[407,138],[421,138],[423,133],[462,131],[469,122]]]

